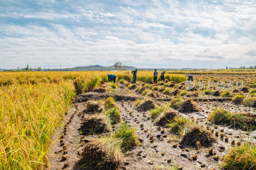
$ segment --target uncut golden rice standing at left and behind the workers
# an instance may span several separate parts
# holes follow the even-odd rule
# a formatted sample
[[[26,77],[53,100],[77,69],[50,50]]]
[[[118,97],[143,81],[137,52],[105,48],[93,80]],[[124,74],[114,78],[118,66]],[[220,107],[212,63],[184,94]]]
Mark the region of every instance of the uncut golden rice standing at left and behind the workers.
[[[50,137],[68,112],[75,93],[88,92],[108,81],[132,80],[121,72],[3,72],[0,73],[0,169],[43,169]],[[151,82],[152,71],[138,71],[137,80]],[[160,76],[159,76],[160,78]],[[180,82],[181,74],[167,80]]]

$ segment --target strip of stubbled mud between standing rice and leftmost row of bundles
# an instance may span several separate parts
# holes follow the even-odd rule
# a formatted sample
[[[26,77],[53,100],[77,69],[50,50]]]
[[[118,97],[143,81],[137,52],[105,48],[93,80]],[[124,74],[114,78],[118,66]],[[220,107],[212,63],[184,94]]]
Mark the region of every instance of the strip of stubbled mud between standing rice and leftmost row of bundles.
[[[77,161],[80,160],[79,152],[83,148],[80,146],[81,135],[79,133],[79,128],[82,116],[80,113],[83,112],[83,110],[83,103],[72,105],[69,108],[68,115],[65,117],[65,120],[63,120],[63,126],[61,126],[57,132],[52,135],[52,140],[57,140],[48,152],[48,154],[50,154],[48,156],[49,164],[51,165],[48,167],[49,169],[79,169]],[[68,122],[69,124],[67,125]],[[67,132],[66,135],[64,135],[64,138],[61,139],[61,135],[63,134],[63,131],[65,131],[65,125],[67,125]],[[64,150],[63,146],[61,146],[61,140],[63,140],[64,147],[66,146]],[[66,157],[67,160],[63,160],[62,156]],[[68,166],[65,166],[65,163],[68,163]]]

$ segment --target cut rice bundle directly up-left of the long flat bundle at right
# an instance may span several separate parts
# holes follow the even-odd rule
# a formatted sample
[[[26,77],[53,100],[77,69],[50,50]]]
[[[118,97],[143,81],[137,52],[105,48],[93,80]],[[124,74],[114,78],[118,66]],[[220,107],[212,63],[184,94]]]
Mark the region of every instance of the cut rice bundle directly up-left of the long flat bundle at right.
[[[171,100],[171,107],[174,109],[178,109],[181,112],[197,112],[199,111],[199,107],[193,99],[183,99],[181,97],[173,97]]]

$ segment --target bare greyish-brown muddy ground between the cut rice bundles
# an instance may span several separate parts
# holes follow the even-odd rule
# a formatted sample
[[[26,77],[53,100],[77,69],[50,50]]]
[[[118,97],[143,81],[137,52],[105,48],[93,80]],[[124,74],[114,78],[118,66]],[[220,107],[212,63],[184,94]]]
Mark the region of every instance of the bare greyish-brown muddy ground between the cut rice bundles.
[[[109,96],[116,98],[116,104],[121,109],[122,119],[129,122],[133,127],[137,128],[136,134],[140,137],[140,146],[132,148],[131,150],[125,153],[125,163],[120,165],[120,169],[164,169],[166,167],[172,167],[172,165],[177,165],[182,169],[221,169],[219,164],[221,163],[221,157],[225,156],[230,148],[231,141],[235,139],[236,142],[239,140],[252,140],[256,142],[254,136],[256,136],[256,131],[248,133],[244,130],[235,129],[233,127],[220,126],[213,127],[212,123],[207,121],[207,116],[215,107],[226,108],[233,112],[243,112],[249,111],[256,113],[255,108],[248,108],[243,105],[233,104],[230,100],[220,101],[206,101],[198,99],[203,98],[213,98],[212,96],[199,96],[194,97],[195,101],[198,101],[197,104],[201,108],[199,112],[184,112],[182,115],[195,120],[199,120],[199,124],[210,125],[211,129],[215,131],[220,131],[224,129],[224,138],[228,137],[228,142],[225,142],[223,139],[218,140],[211,147],[215,155],[219,155],[220,159],[214,159],[214,156],[209,156],[208,151],[210,147],[200,147],[197,150],[193,146],[184,146],[179,143],[179,137],[173,135],[169,132],[167,127],[154,126],[152,119],[149,116],[148,111],[138,111],[135,108],[134,100],[137,98],[144,98],[140,94],[136,93],[134,90],[130,90],[120,83],[118,88],[115,90],[107,90],[106,92],[89,92],[81,94],[77,97],[77,103],[73,104],[63,120],[63,126],[61,126],[57,133],[52,135],[52,141],[55,141],[52,144],[51,149],[49,150],[49,164],[47,168],[49,169],[81,169],[81,153],[83,151],[83,144],[87,140],[92,138],[97,138],[97,135],[83,135],[80,131],[80,123],[83,120],[83,117],[88,116],[86,110],[86,101],[89,99],[102,99]],[[104,85],[107,86],[107,85]],[[168,103],[168,96],[160,95],[162,98],[155,99],[156,104],[162,104],[163,102]],[[216,97],[215,97],[216,98]],[[219,97],[220,98],[220,97]],[[162,99],[162,100],[161,100]],[[124,106],[122,106],[122,103]],[[73,116],[72,116],[73,115]],[[68,123],[69,122],[69,123]],[[68,124],[67,124],[68,123]],[[67,125],[67,126],[65,126]],[[116,129],[118,125],[113,126],[113,129]],[[63,132],[66,135],[61,139]],[[164,129],[164,133],[161,133],[161,130]],[[104,135],[104,134],[102,134]],[[153,135],[154,142],[150,143],[150,136]],[[61,140],[63,143],[61,144]],[[63,146],[66,147],[63,149]],[[192,156],[197,154],[197,159],[192,160]],[[62,158],[65,156],[64,158]],[[66,159],[66,160],[65,160]],[[167,160],[171,159],[172,162],[168,163]],[[65,166],[66,164],[66,166]],[[92,168],[87,168],[92,169]]]

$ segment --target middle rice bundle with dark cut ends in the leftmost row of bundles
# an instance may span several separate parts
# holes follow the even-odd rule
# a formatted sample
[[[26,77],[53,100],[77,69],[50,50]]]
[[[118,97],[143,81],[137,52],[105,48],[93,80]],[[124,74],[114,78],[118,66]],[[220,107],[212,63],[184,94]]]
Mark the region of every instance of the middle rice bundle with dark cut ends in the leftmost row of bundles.
[[[112,120],[106,115],[91,115],[83,120],[81,130],[85,134],[110,132],[112,131],[111,123]]]

